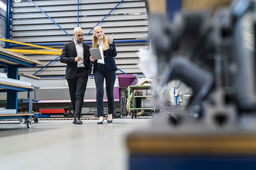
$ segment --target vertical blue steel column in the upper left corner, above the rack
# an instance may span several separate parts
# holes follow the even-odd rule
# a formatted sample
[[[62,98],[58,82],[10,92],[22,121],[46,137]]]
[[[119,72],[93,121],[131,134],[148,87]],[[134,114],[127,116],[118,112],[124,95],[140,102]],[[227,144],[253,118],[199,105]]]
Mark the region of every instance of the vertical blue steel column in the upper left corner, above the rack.
[[[6,0],[6,30],[5,38],[10,39],[10,25],[11,25],[11,0]],[[10,48],[10,43],[5,42],[5,48]]]

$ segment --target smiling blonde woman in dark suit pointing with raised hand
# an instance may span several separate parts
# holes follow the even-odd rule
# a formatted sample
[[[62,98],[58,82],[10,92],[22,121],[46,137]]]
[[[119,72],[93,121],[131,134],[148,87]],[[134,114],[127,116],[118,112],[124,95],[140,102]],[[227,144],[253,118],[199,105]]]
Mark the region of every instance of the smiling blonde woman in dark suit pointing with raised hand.
[[[99,48],[101,59],[96,60],[95,56],[90,56],[94,68],[94,80],[96,84],[96,101],[97,101],[97,117],[99,121],[97,124],[103,124],[103,95],[104,95],[104,78],[106,79],[106,92],[108,97],[108,123],[112,123],[112,113],[114,112],[114,96],[113,88],[114,81],[116,81],[116,62],[114,57],[117,56],[116,46],[113,41],[113,34],[106,38],[103,29],[96,26],[93,30],[93,48]]]

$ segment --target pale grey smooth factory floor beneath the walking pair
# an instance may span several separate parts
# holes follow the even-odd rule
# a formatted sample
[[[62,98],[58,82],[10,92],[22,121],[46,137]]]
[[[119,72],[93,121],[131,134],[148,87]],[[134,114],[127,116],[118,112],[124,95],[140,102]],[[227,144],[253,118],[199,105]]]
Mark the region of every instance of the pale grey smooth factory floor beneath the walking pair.
[[[30,129],[0,121],[0,169],[127,169],[125,137],[151,117],[98,120],[41,120]]]

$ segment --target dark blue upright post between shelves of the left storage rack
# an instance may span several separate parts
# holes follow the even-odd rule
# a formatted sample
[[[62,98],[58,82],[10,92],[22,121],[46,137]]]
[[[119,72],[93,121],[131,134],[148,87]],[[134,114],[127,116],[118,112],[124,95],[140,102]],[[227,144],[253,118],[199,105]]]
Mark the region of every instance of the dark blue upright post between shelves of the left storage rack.
[[[8,78],[18,79],[18,67],[8,67]],[[18,92],[16,90],[7,90],[7,109],[18,108]]]

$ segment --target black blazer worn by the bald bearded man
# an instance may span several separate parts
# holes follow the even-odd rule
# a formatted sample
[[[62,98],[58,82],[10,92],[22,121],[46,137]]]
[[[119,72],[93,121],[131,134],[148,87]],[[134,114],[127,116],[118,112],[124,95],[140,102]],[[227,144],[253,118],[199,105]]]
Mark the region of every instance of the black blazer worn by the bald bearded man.
[[[86,69],[88,69],[89,75],[92,73],[92,62],[89,60],[89,57],[91,56],[89,52],[89,46],[83,43],[84,48],[84,66]],[[75,49],[74,41],[71,41],[70,43],[66,43],[63,46],[63,50],[60,55],[60,62],[66,63],[66,79],[72,79],[74,78],[76,74],[76,68],[78,67],[78,62],[75,62],[75,57],[78,56]]]

